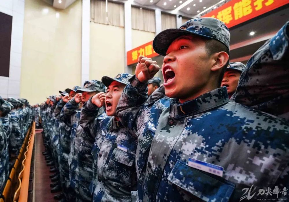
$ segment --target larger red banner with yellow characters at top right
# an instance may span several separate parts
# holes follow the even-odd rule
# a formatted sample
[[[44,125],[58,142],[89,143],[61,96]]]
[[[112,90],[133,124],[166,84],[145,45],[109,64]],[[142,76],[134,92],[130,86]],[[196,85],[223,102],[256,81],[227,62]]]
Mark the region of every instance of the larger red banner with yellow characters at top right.
[[[228,28],[289,4],[289,0],[232,0],[202,17],[214,17]]]

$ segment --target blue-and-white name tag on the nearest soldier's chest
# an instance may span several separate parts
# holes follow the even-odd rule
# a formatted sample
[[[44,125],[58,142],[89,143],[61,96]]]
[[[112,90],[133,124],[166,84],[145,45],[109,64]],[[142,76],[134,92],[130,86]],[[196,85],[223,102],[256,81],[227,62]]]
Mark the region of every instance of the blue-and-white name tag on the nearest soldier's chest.
[[[224,168],[221,166],[216,166],[193,158],[189,158],[188,166],[223,177]]]

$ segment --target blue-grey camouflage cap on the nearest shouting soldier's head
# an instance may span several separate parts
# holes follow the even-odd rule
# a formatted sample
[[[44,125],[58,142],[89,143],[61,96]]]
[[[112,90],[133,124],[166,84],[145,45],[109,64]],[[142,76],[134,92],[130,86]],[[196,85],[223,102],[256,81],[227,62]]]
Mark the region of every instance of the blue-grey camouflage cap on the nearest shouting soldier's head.
[[[180,28],[166,29],[153,39],[153,49],[156,53],[165,56],[171,43],[176,38],[187,34],[216,39],[230,49],[229,29],[222,21],[216,18],[194,18],[181,25]]]

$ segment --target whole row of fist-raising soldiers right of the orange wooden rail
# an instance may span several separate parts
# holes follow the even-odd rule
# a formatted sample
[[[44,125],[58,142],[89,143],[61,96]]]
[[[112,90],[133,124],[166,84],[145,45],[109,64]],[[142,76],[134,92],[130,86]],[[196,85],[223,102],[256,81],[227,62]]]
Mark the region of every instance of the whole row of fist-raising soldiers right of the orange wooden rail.
[[[134,76],[122,73],[86,81],[40,105],[43,155],[54,172],[51,192],[62,191],[55,199],[239,201],[247,187],[256,186],[262,195],[264,187],[269,191],[280,185],[278,193],[286,197],[289,23],[246,67],[239,62],[228,65],[222,59],[229,58],[225,51],[217,51],[214,64],[202,52],[207,38],[201,37],[229,49],[230,34],[223,22],[200,18],[181,28],[164,30],[153,42],[155,51],[165,56],[166,86],[153,77],[159,69],[156,62],[140,56]],[[198,54],[194,46],[201,47]],[[201,54],[206,57],[200,59]],[[183,57],[177,68],[165,65],[179,55]],[[203,61],[207,64],[202,68],[209,70],[193,69]],[[222,67],[220,80],[215,70]],[[198,89],[188,85],[189,79],[197,87],[209,84],[210,91],[184,99],[191,96],[189,90]],[[177,90],[170,91],[169,85]],[[210,168],[194,166],[199,161]]]

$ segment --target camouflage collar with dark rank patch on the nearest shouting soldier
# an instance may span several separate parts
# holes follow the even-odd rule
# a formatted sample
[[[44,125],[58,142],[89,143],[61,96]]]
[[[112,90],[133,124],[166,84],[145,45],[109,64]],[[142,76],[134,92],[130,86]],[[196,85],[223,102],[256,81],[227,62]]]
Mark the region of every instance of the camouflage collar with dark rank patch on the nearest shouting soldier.
[[[229,102],[229,96],[226,87],[217,88],[205,93],[194,100],[184,103],[175,103],[171,105],[170,117],[181,118],[197,113],[205,112]]]

